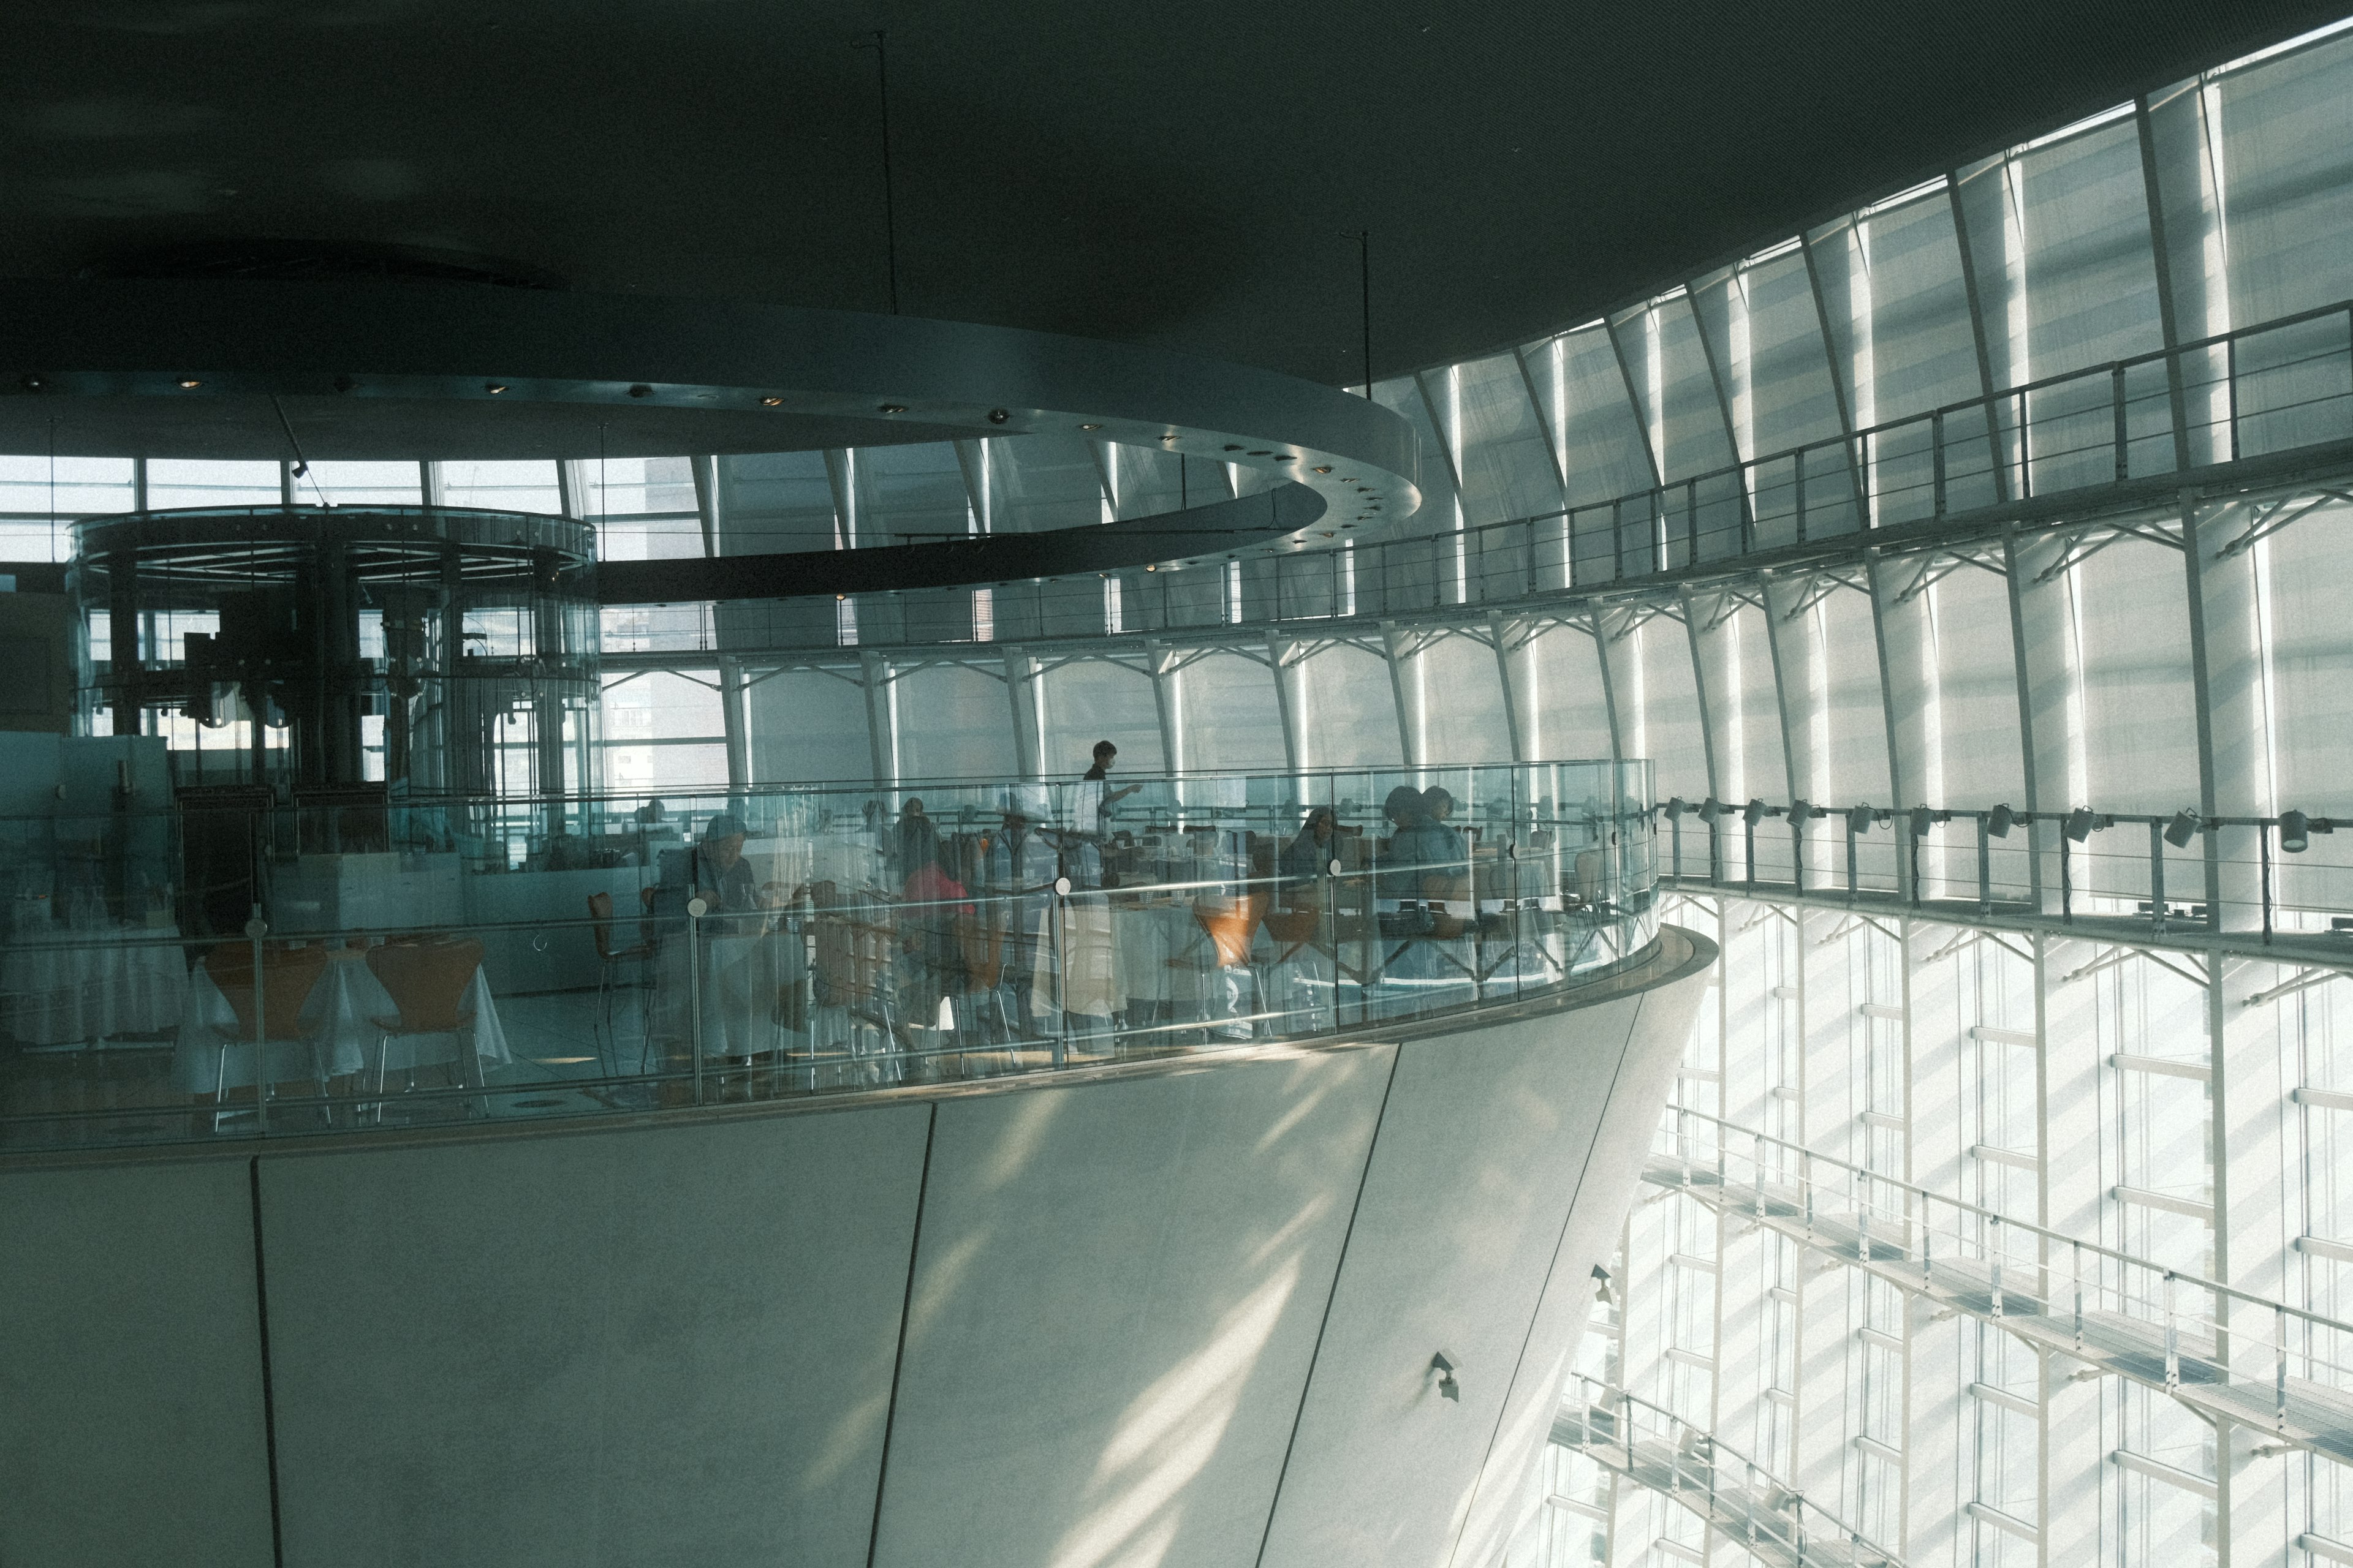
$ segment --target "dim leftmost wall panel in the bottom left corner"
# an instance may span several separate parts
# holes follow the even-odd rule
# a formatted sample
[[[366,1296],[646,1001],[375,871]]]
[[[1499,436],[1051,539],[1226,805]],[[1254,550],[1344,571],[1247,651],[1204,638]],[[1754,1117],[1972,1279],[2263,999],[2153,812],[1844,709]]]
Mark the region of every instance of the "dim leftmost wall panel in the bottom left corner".
[[[0,1563],[268,1568],[242,1159],[0,1182]]]

